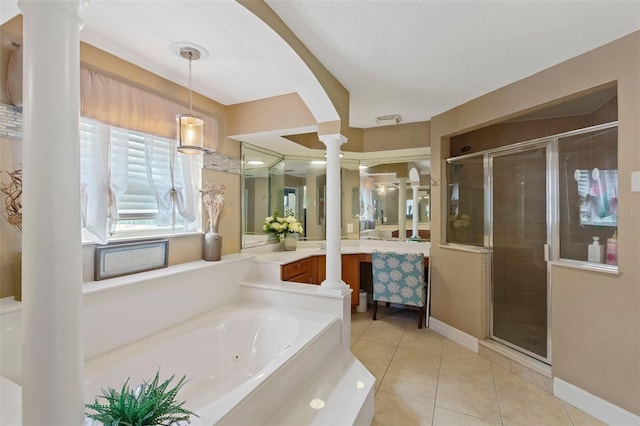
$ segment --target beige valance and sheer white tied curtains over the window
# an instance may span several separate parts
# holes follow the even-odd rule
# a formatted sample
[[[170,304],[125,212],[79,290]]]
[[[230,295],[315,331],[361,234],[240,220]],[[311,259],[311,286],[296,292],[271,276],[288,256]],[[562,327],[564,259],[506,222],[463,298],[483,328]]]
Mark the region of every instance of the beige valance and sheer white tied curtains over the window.
[[[175,141],[175,116],[185,112],[184,106],[88,69],[81,69],[80,78],[82,117]],[[218,122],[211,116],[202,118],[205,146],[215,148]],[[115,231],[118,202],[127,189],[128,176],[127,141],[111,138],[109,143],[108,125],[101,124],[100,137],[85,147],[88,166],[83,168],[81,182],[83,240],[100,244],[106,244],[108,232]],[[175,144],[161,146],[151,140],[145,141],[145,155],[147,176],[158,202],[159,225],[175,223],[175,208],[184,218],[185,230],[198,229],[201,156],[177,155]],[[154,163],[167,161],[167,157],[170,176],[154,173]]]

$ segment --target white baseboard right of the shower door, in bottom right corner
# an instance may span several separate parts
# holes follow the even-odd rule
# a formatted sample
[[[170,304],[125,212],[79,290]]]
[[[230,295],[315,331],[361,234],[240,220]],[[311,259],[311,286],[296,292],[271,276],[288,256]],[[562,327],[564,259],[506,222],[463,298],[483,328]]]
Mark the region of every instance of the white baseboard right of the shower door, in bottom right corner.
[[[608,425],[640,425],[640,416],[557,377],[553,378],[553,394]]]

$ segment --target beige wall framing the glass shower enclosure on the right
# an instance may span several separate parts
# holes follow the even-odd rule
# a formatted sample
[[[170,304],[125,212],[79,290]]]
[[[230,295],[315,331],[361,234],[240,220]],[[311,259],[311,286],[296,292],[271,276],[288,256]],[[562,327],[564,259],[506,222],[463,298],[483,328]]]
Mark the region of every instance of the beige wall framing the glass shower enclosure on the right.
[[[432,175],[445,182],[441,161],[449,137],[618,83],[619,275],[552,265],[552,371],[555,376],[640,414],[640,196],[630,188],[640,170],[640,32],[587,52],[434,117]],[[432,186],[432,312],[484,338],[484,254],[442,249],[444,185]],[[473,258],[473,261],[469,259]],[[464,263],[463,263],[464,262]],[[464,264],[465,268],[460,266]],[[467,270],[467,266],[471,271]],[[462,305],[462,306],[461,306]]]

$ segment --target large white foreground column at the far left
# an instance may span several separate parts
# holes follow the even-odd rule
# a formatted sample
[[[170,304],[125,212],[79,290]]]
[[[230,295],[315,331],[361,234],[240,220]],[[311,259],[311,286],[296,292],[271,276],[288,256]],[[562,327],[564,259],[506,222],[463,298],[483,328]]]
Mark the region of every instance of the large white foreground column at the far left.
[[[23,0],[25,425],[84,421],[79,3]]]

